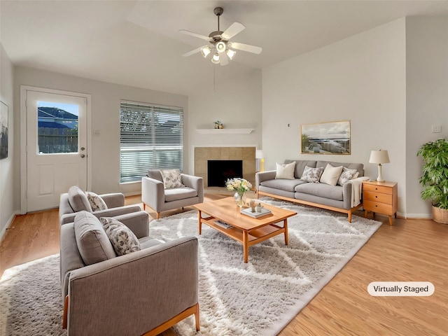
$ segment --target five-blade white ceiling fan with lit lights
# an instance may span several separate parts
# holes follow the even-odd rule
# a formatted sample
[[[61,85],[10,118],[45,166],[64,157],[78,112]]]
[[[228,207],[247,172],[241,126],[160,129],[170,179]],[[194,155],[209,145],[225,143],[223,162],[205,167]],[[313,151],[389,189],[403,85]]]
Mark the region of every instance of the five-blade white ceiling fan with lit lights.
[[[182,34],[202,38],[203,40],[209,41],[210,43],[208,45],[203,45],[200,48],[196,48],[195,50],[191,50],[186,54],[183,54],[183,57],[188,57],[194,55],[197,52],[201,52],[202,56],[204,56],[204,58],[207,58],[207,56],[212,53],[212,63],[227,65],[229,64],[229,59],[233,59],[233,57],[235,57],[235,54],[237,53],[234,49],[252,52],[258,55],[262,52],[262,48],[256,47],[255,45],[229,41],[230,38],[246,29],[246,27],[244,27],[244,25],[241,25],[241,23],[239,22],[234,22],[230,27],[228,27],[228,29],[225,29],[225,31],[221,31],[219,28],[219,17],[221,16],[221,14],[223,14],[223,12],[224,10],[221,7],[216,7],[214,9],[214,13],[218,17],[218,30],[212,31],[209,36],[204,36],[184,29],[179,30]]]

